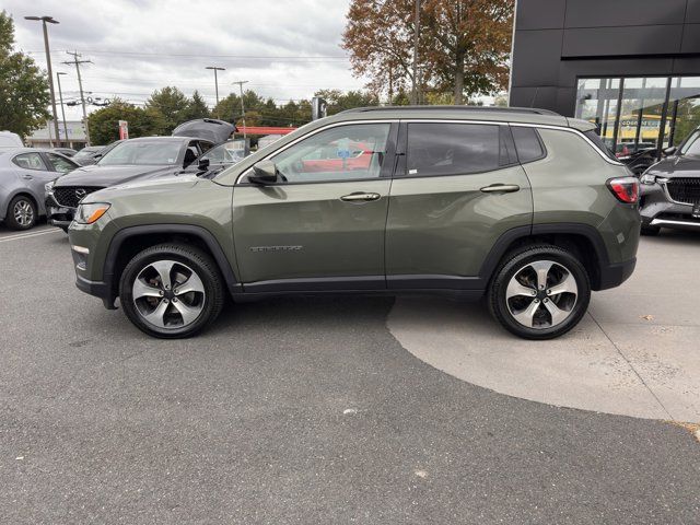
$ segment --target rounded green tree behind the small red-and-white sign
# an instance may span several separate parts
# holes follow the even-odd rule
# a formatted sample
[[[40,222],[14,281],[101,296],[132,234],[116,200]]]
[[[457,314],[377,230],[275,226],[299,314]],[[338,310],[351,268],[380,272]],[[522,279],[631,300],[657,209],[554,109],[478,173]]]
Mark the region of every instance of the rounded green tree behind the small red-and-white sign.
[[[163,116],[153,107],[140,108],[119,98],[90,114],[90,138],[95,144],[119,139],[119,120],[129,122],[129,138],[158,135],[165,127]]]

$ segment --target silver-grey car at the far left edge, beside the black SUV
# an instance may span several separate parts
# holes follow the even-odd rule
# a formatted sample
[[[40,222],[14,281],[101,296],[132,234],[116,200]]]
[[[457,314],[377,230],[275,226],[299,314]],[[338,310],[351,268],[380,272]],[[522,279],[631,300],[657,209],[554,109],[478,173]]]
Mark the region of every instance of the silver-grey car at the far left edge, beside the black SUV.
[[[34,226],[46,214],[45,185],[77,167],[50,150],[0,149],[0,220],[13,230]]]

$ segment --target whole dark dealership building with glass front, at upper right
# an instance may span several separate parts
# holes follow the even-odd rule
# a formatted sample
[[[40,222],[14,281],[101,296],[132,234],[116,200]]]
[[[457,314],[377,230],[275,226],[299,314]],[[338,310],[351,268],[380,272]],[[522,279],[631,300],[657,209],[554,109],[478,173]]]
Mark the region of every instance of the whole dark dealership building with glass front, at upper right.
[[[618,154],[700,126],[700,0],[517,0],[510,104],[599,127]]]

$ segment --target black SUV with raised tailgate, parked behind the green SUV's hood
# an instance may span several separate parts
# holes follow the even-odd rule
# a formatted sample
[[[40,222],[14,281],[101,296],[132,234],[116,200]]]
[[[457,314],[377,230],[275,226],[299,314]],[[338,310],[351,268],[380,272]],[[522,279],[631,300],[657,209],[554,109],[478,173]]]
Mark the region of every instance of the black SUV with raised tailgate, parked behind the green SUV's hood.
[[[173,137],[124,140],[97,164],[81,166],[46,185],[48,222],[67,231],[86,195],[135,180],[177,175],[196,166],[202,153],[224,142],[234,131],[233,124],[200,119],[178,126]]]

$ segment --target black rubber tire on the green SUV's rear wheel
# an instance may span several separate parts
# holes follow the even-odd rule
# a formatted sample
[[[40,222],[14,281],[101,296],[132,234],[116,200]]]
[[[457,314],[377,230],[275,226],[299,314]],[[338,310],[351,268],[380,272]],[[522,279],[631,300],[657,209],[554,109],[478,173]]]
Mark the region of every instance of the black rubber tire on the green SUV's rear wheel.
[[[530,298],[523,294],[509,299],[508,290],[512,280],[518,281],[524,277],[533,276],[536,278],[537,273],[533,273],[534,269],[529,265],[538,262],[546,265],[545,261],[553,262],[551,269],[545,272],[547,276],[545,289],[535,291],[538,287],[533,283],[532,290],[528,287],[523,287],[523,289],[535,291],[536,296]],[[563,280],[567,276],[573,277],[576,292],[549,295],[548,292],[553,292],[556,289],[557,277]],[[515,285],[517,284],[520,281],[515,282]],[[491,315],[506,330],[525,339],[553,339],[564,335],[579,324],[588,308],[590,301],[591,280],[585,267],[571,252],[550,245],[534,245],[511,252],[504,257],[491,280],[488,293]],[[517,303],[521,303],[521,307],[524,310],[520,310]],[[525,326],[515,318],[515,314],[522,315],[527,311],[526,306],[534,308],[532,324],[536,326]],[[553,306],[556,306],[556,311],[562,312],[561,315],[565,314],[563,320],[558,324],[555,323],[555,316],[549,311]],[[512,308],[515,310],[515,313]]]

